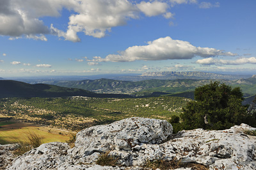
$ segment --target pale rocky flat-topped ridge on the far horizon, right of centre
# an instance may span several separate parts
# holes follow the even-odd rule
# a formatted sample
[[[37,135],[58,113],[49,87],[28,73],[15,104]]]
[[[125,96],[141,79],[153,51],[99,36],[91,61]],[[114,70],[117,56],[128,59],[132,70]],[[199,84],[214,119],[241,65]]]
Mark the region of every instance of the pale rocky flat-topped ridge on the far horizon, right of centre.
[[[146,72],[141,77],[156,77],[165,79],[228,79],[236,80],[241,78],[249,78],[252,75],[228,75],[207,72]]]

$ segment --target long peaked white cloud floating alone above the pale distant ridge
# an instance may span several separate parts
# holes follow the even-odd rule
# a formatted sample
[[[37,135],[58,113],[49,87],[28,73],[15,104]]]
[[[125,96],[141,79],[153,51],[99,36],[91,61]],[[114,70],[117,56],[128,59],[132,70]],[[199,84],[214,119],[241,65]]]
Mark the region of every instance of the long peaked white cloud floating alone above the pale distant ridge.
[[[109,54],[106,58],[95,57],[93,61],[154,61],[166,59],[191,59],[195,56],[210,58],[213,56],[237,56],[237,54],[209,47],[195,47],[189,42],[173,40],[170,36],[166,36],[165,38],[159,38],[153,42],[148,42],[148,45],[136,45],[119,52],[119,54]]]

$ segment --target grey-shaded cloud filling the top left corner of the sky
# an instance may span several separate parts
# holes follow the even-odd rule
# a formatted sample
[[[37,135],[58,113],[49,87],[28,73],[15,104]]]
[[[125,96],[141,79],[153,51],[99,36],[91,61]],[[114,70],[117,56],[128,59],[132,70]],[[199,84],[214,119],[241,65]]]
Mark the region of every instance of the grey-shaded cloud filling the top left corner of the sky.
[[[37,34],[47,34],[49,29],[44,26],[44,22],[39,20],[29,12],[26,6],[28,0],[1,0],[0,2],[0,35],[8,36],[33,36]],[[32,1],[31,1],[32,3]],[[34,1],[33,4],[38,3]],[[38,9],[42,7],[38,6]],[[35,10],[36,13],[36,10]]]

